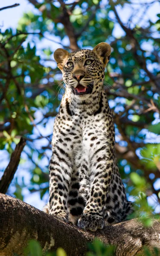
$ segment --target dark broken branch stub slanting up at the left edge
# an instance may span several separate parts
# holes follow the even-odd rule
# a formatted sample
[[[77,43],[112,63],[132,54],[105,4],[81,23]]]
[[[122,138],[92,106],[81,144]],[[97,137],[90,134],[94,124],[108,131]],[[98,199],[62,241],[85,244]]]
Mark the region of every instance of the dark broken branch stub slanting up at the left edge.
[[[9,188],[9,185],[17,170],[18,164],[20,162],[20,155],[25,145],[26,140],[21,137],[20,142],[16,145],[15,150],[11,155],[9,165],[7,166],[3,176],[0,179],[0,193],[5,194],[7,192],[7,189]]]

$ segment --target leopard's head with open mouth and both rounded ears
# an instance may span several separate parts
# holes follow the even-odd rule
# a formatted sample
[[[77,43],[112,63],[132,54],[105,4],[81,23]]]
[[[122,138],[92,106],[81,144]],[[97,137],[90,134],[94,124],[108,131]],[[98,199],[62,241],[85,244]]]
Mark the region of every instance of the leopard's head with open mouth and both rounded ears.
[[[100,90],[110,55],[111,46],[107,43],[97,44],[93,50],[81,49],[69,53],[59,48],[54,52],[64,83],[71,93],[83,98]]]

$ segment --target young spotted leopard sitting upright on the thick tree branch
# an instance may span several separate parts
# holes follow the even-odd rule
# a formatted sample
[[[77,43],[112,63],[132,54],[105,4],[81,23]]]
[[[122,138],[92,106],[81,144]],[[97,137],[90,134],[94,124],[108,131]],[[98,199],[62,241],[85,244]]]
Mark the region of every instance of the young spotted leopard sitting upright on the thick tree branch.
[[[44,212],[83,230],[125,221],[132,212],[119,174],[113,114],[103,82],[111,46],[54,52],[65,93],[55,118]]]

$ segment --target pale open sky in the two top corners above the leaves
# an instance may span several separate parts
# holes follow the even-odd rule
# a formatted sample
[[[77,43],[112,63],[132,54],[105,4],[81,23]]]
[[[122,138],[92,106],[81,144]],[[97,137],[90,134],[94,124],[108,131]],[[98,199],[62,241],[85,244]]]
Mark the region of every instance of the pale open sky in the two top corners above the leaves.
[[[140,7],[140,3],[149,3],[152,0],[133,0],[132,3],[134,3],[134,5],[132,5],[132,7],[134,7],[134,12],[135,15],[133,15],[133,22],[137,22],[138,17],[140,17],[142,15],[143,12],[143,8]],[[41,1],[39,1],[41,2]],[[66,1],[66,3],[69,1]],[[72,1],[71,1],[72,2]],[[103,0],[102,2],[107,2],[107,0]],[[115,1],[114,1],[115,2]],[[7,0],[7,1],[0,1],[0,8],[4,7],[4,6],[10,6],[13,5],[15,3],[20,3],[20,6],[17,6],[15,8],[11,8],[11,9],[6,9],[0,12],[0,28],[2,30],[2,32],[9,28],[16,28],[18,20],[20,19],[20,17],[23,16],[24,12],[36,12],[35,8],[33,7],[33,5],[31,3],[29,3],[28,0]],[[131,13],[132,13],[132,9],[130,8],[130,5],[127,4],[125,5],[125,8],[123,8],[122,6],[117,6],[116,7],[118,13],[119,13],[119,17],[121,18],[121,20],[125,23],[128,21],[128,18],[130,17]],[[157,18],[157,14],[160,12],[160,2],[155,2],[146,12],[145,16],[143,17],[143,19],[140,21],[139,25],[140,26],[144,26],[146,21],[148,19],[150,19],[152,22],[156,22]],[[110,14],[111,17],[114,17],[113,14]],[[114,29],[114,35],[116,37],[120,37],[122,35],[124,35],[124,32],[122,30],[122,28],[117,25]]]

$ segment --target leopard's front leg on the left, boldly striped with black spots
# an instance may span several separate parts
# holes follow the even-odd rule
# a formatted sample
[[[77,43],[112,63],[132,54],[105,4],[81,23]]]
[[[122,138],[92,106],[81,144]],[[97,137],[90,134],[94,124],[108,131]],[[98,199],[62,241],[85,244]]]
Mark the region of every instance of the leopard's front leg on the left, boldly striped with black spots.
[[[60,143],[59,143],[60,144]],[[53,145],[49,164],[49,213],[68,222],[67,194],[69,191],[72,163],[63,146]]]

